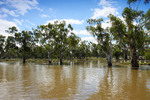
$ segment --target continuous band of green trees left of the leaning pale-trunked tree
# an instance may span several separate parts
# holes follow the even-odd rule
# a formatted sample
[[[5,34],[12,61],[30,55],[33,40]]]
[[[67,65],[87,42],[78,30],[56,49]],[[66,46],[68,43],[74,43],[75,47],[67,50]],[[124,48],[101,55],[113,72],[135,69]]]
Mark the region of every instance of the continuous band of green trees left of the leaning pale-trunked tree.
[[[81,38],[72,32],[71,25],[66,27],[65,22],[56,21],[54,24],[38,26],[32,31],[18,32],[11,27],[6,32],[12,36],[0,35],[0,58],[14,59],[73,59],[86,57],[105,57],[98,44],[81,41]]]

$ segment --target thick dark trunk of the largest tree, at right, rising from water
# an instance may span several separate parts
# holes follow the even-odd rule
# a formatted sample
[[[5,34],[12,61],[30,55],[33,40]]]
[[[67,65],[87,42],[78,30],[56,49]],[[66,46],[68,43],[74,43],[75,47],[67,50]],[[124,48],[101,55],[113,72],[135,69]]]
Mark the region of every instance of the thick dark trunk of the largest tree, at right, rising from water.
[[[136,55],[136,49],[134,46],[130,47],[130,53],[131,53],[131,64],[132,67],[139,67],[137,55]]]

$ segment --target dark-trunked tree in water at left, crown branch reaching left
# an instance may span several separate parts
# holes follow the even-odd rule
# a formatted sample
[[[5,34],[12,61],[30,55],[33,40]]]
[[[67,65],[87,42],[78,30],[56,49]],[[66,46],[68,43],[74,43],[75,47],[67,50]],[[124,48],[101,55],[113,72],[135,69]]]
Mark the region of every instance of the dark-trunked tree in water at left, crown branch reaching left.
[[[25,30],[18,32],[15,26],[10,27],[6,32],[14,35],[15,43],[21,47],[23,63],[26,63],[26,58],[29,56],[29,51],[34,44],[33,32]],[[12,43],[12,45],[14,45],[14,43]]]

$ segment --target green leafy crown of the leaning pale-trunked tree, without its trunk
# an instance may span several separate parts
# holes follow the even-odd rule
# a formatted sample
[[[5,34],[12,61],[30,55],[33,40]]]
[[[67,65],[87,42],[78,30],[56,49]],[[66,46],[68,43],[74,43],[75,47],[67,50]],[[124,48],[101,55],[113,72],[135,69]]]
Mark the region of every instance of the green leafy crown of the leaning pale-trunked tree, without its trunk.
[[[111,34],[108,30],[104,30],[102,28],[101,21],[103,21],[103,19],[89,19],[87,23],[89,23],[91,26],[87,26],[86,29],[93,35],[93,37],[95,37],[103,51],[105,51],[107,54],[110,54]],[[96,26],[92,26],[95,24]]]

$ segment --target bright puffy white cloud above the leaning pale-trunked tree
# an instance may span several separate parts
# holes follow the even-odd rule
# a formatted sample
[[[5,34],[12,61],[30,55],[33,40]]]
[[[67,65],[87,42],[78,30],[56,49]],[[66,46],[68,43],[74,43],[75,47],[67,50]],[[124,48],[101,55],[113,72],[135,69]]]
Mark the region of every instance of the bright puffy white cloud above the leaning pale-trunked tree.
[[[102,9],[95,8],[94,9],[94,16],[92,18],[98,17],[107,17],[109,14],[117,15],[118,11],[117,8],[114,7],[102,7]]]

